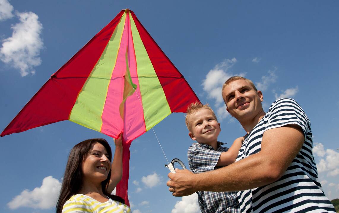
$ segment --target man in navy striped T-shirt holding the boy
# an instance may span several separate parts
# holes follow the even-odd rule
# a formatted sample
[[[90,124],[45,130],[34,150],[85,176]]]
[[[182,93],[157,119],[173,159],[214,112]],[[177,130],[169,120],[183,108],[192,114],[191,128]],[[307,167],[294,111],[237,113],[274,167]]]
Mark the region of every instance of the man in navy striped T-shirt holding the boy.
[[[242,212],[335,212],[319,183],[310,121],[299,104],[278,99],[265,113],[261,91],[238,76],[225,82],[222,96],[247,132],[236,162],[199,174],[169,173],[169,191],[239,191]]]

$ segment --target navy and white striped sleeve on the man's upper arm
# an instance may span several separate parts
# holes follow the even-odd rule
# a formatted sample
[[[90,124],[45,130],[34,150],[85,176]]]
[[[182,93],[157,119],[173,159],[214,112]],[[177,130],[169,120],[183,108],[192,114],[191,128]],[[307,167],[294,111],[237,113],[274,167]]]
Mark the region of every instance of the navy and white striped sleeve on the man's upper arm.
[[[310,125],[305,112],[300,105],[291,98],[281,98],[276,100],[270,110],[269,117],[264,124],[264,132],[268,129],[282,127],[288,124],[296,124],[300,126],[306,137],[307,129]]]

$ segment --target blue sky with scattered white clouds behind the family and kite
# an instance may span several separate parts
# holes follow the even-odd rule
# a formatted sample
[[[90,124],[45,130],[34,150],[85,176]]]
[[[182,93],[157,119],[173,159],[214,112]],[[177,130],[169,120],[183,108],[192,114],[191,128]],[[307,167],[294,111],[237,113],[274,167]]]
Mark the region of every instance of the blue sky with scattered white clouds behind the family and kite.
[[[55,71],[129,8],[200,100],[217,112],[220,141],[244,135],[220,99],[227,77],[252,79],[263,91],[265,110],[278,97],[297,100],[311,120],[325,194],[339,198],[338,1],[124,2],[0,0],[1,131]],[[154,130],[167,158],[188,166],[192,140],[184,114],[169,115]],[[54,212],[69,150],[97,137],[114,147],[111,138],[70,121],[0,138],[0,211]],[[199,212],[195,195],[168,192],[165,163],[152,131],[132,142],[132,210]]]

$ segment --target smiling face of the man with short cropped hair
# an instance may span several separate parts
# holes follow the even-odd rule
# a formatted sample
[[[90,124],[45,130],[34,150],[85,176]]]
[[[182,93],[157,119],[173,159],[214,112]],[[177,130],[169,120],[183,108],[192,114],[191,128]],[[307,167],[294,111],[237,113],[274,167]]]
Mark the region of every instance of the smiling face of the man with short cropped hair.
[[[222,97],[226,103],[227,111],[236,119],[253,119],[262,111],[261,91],[256,92],[246,80],[232,81],[222,91]]]

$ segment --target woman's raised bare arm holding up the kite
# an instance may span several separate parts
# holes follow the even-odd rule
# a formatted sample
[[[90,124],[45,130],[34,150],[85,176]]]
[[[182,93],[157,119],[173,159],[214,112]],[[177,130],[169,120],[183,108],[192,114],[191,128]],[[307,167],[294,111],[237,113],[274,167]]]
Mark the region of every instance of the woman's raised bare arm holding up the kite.
[[[114,140],[115,152],[111,167],[111,180],[109,180],[108,193],[112,193],[122,177],[122,133]]]

